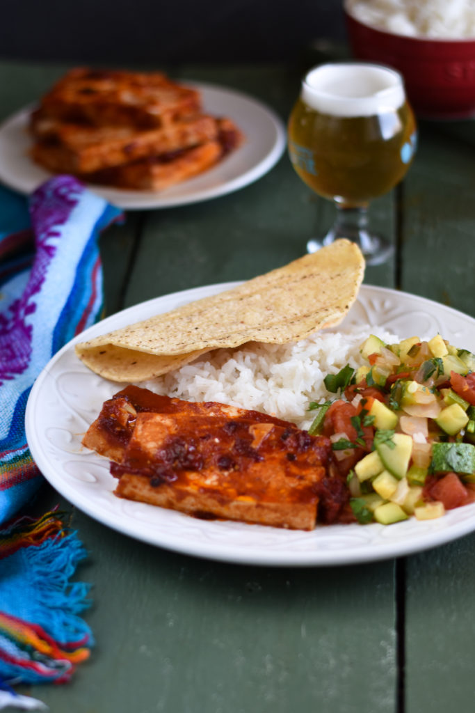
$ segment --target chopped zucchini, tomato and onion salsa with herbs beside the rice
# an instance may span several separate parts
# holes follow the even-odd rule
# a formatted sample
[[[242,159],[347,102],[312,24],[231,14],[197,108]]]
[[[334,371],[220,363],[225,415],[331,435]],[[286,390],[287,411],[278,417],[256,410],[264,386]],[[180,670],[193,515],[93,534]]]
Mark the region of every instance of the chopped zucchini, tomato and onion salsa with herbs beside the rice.
[[[360,523],[438,518],[475,501],[475,356],[437,334],[385,344],[370,336],[364,366],[325,377],[340,396],[310,404],[310,434],[332,441]]]

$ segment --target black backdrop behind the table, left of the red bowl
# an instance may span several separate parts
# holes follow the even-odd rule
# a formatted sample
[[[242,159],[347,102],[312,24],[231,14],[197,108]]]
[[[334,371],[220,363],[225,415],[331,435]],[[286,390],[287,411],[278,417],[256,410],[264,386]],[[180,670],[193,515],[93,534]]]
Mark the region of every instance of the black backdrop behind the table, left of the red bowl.
[[[261,63],[322,38],[345,41],[342,0],[1,0],[1,59]]]

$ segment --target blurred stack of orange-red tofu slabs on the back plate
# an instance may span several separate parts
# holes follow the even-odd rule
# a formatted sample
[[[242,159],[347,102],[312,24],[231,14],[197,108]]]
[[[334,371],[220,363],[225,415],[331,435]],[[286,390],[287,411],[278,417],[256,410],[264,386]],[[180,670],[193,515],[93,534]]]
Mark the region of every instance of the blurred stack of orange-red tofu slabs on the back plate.
[[[216,165],[244,137],[196,88],[160,72],[75,68],[31,114],[31,158],[51,173],[164,190]]]

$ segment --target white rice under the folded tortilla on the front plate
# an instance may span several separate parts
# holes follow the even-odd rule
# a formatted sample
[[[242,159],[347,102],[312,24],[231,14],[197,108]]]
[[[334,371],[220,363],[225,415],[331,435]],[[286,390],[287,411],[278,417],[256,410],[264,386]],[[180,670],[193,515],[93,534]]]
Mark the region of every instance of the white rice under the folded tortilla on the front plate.
[[[360,347],[370,334],[387,344],[400,341],[368,326],[345,333],[323,330],[289,344],[253,342],[239,349],[216,349],[140,386],[187,401],[219,401],[262,411],[308,429],[315,416],[308,411],[310,401],[335,398],[325,389],[324,377],[338,374],[345,364],[361,366]]]

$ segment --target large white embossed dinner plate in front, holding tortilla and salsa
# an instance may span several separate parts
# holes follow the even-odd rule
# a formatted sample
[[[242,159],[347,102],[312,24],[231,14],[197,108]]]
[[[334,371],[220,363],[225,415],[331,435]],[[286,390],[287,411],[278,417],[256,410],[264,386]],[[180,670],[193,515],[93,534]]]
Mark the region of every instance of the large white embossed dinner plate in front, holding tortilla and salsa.
[[[216,284],[151,299],[118,312],[75,337],[48,363],[31,390],[26,435],[44,476],[68,501],[121,533],[189,555],[252,565],[343,565],[407,555],[475,530],[475,503],[437,520],[409,518],[383,526],[319,525],[312,532],[198,520],[113,495],[108,461],[83,448],[82,434],[103,401],[123,385],[101,379],[75,356],[75,342],[167,312],[238,283]],[[475,319],[429,299],[363,285],[340,331],[370,324],[400,337],[442,334],[475,352]]]

